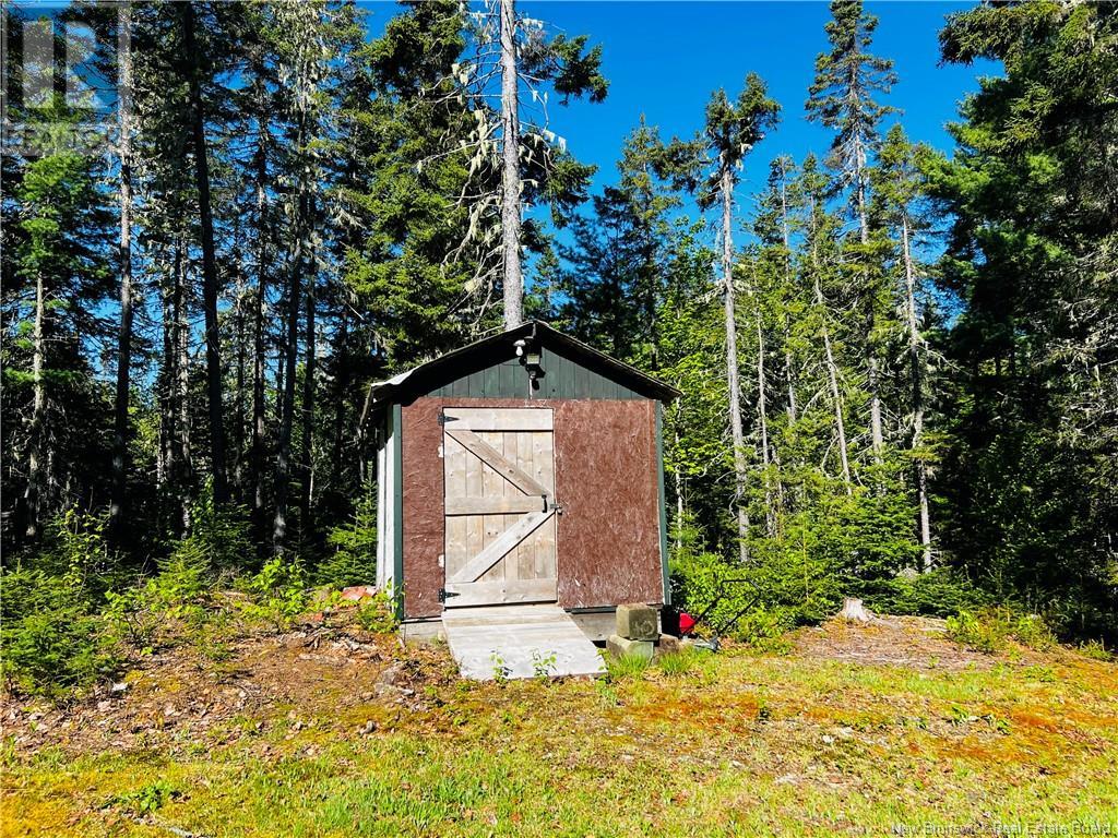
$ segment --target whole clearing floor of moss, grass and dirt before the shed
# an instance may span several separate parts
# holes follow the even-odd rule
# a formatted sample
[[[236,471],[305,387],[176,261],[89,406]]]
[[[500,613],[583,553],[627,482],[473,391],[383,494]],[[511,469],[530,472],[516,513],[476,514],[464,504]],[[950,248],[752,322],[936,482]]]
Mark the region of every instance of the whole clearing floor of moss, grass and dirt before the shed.
[[[7,701],[0,832],[1118,835],[1114,663],[930,621],[790,639],[508,684],[392,638],[169,654],[115,695]]]

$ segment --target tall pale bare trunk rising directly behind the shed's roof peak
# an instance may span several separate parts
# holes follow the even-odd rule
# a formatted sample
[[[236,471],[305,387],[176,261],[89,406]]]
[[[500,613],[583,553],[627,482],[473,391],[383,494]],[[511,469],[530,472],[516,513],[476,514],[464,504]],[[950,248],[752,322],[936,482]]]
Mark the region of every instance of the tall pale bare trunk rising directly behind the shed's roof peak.
[[[501,253],[504,263],[504,326],[524,320],[524,280],[520,269],[520,103],[517,77],[517,8],[501,3],[501,128],[504,149],[501,169]]]

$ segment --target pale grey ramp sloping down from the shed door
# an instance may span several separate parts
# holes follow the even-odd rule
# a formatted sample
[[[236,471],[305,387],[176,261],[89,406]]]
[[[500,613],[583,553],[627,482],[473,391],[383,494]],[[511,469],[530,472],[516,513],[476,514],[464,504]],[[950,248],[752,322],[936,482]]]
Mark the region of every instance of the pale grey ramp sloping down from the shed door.
[[[463,678],[492,680],[548,675],[599,675],[597,647],[555,603],[481,606],[443,612],[446,642]],[[553,659],[552,659],[553,656]]]

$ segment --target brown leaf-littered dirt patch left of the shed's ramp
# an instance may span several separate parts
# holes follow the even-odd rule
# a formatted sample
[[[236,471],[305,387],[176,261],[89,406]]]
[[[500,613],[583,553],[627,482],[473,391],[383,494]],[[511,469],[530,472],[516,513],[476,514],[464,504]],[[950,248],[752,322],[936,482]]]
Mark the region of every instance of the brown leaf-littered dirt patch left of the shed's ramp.
[[[309,727],[352,736],[371,733],[382,717],[427,710],[437,703],[428,687],[455,678],[443,649],[320,623],[239,639],[221,660],[190,647],[152,655],[115,685],[66,705],[3,696],[0,723],[23,754],[45,747],[174,753]]]

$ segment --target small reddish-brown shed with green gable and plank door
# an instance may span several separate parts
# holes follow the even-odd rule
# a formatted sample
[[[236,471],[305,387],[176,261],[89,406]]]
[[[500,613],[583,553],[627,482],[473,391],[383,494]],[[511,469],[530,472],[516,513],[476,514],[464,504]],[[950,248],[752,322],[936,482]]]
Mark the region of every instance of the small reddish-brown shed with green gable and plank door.
[[[377,583],[467,607],[667,600],[661,410],[679,392],[529,322],[372,384]]]

